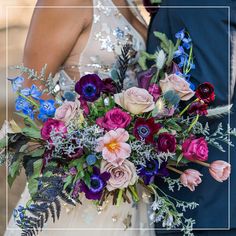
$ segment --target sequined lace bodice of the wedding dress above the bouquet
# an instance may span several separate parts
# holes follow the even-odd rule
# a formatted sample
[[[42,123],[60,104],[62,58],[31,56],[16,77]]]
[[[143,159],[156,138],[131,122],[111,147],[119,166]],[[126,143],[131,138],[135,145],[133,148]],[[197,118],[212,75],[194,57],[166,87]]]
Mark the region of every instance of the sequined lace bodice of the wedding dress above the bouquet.
[[[127,2],[133,14],[145,24],[133,1]],[[93,22],[89,39],[80,55],[76,53],[76,45],[72,49],[61,72],[61,86],[68,84],[65,71],[74,70],[80,76],[97,73],[101,78],[109,77],[116,58],[126,43],[132,44],[137,52],[145,50],[144,39],[112,0],[93,0]],[[138,53],[136,60],[137,58]]]

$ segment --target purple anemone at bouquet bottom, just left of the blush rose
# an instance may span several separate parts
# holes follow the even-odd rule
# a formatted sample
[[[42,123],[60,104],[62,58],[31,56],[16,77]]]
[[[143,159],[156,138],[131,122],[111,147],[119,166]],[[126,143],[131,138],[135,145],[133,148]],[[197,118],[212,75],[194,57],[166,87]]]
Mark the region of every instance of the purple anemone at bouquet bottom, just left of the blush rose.
[[[80,190],[85,193],[87,199],[99,200],[109,178],[110,174],[108,172],[101,174],[97,167],[93,167],[93,174],[90,177],[90,186],[87,186],[81,181]]]

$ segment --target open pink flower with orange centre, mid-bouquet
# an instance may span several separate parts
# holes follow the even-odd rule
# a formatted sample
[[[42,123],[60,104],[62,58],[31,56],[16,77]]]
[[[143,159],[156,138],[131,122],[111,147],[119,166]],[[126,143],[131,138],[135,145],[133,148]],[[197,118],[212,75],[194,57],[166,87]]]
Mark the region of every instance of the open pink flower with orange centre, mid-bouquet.
[[[98,139],[97,152],[102,152],[104,160],[114,166],[122,165],[131,154],[131,147],[128,143],[129,133],[123,129],[110,130],[103,137]]]

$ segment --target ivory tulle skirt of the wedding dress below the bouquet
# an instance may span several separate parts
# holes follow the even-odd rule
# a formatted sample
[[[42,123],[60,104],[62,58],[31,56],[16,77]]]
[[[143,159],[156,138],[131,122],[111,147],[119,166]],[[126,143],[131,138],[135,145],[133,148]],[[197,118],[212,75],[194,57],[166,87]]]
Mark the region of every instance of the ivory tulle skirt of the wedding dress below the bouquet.
[[[83,197],[84,198],[84,197]],[[25,205],[29,199],[25,188],[18,205]],[[119,207],[108,200],[98,209],[90,201],[81,199],[83,205],[76,207],[62,203],[59,220],[48,220],[40,236],[154,236],[148,217],[148,202],[140,201],[138,205],[122,203]],[[20,236],[21,230],[16,226],[12,216],[4,236]]]

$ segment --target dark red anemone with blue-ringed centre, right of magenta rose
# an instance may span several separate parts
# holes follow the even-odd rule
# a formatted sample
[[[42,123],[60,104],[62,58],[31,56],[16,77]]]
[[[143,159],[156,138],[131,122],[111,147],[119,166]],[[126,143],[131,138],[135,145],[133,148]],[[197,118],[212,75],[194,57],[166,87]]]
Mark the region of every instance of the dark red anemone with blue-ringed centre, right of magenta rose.
[[[154,143],[154,135],[161,129],[161,125],[155,123],[154,118],[138,118],[134,124],[134,136],[146,143]]]

